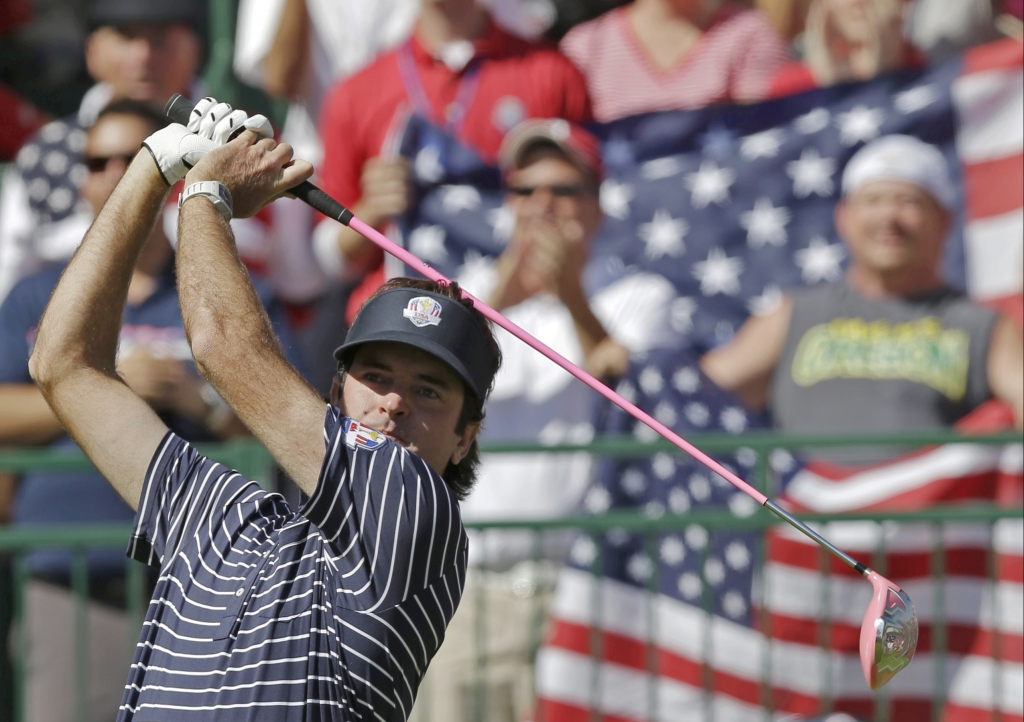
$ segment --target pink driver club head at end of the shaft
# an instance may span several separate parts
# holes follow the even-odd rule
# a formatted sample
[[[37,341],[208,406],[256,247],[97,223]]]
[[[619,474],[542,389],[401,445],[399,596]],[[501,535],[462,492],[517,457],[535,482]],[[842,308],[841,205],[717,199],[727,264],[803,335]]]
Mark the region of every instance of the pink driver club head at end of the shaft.
[[[874,590],[860,625],[860,666],[879,689],[910,664],[918,648],[918,614],[910,597],[885,577],[867,572]]]

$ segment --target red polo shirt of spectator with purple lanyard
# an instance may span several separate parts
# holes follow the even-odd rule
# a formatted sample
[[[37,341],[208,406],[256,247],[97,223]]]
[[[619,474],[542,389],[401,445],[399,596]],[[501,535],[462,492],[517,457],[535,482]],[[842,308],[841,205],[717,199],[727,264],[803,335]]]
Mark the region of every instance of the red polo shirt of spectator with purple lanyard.
[[[410,43],[433,117],[444,118],[444,109],[459,92],[463,73],[434,58],[415,36]],[[484,160],[494,162],[505,133],[526,118],[565,118],[578,123],[591,119],[583,76],[557,49],[509,35],[489,20],[483,37],[473,46],[475,57],[480,58],[479,82],[456,135]],[[401,119],[413,112],[398,68],[398,52],[381,55],[334,85],[324,99],[319,183],[349,208],[361,197],[362,166],[381,155]],[[349,321],[383,278],[383,269],[378,268],[353,292]]]

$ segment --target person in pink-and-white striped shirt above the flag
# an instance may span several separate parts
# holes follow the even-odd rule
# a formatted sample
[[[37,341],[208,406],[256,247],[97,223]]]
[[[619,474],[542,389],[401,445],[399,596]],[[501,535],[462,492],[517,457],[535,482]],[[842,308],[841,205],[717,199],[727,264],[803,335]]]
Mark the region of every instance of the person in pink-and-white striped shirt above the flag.
[[[577,26],[561,48],[587,78],[602,123],[760,100],[788,56],[761,12],[718,0],[635,0]]]

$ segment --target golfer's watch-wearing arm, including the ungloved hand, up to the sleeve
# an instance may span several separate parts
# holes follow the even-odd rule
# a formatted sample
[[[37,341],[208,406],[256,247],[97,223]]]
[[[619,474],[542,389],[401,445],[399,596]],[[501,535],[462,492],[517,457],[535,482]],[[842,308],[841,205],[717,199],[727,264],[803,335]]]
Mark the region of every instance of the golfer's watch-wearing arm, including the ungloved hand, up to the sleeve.
[[[296,166],[282,171],[290,148],[276,146],[287,148],[287,157],[274,155],[272,140],[253,143],[253,138],[243,133],[211,153],[189,171],[185,184],[221,180],[231,189],[238,215],[248,203],[247,188],[262,183],[269,199],[270,188],[283,190],[308,177],[295,172]],[[177,264],[181,315],[197,368],[299,487],[312,494],[324,458],[324,400],[285,358],[239,260],[230,226],[205,200],[181,207]]]

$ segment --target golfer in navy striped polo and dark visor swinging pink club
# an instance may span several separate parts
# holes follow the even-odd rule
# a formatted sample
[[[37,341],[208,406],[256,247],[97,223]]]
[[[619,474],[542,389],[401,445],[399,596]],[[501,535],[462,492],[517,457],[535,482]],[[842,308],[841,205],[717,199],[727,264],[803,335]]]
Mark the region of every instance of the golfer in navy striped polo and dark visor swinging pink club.
[[[240,123],[252,130],[227,141]],[[500,351],[457,287],[396,280],[364,304],[325,405],[285,360],[227,222],[312,168],[265,119],[212,100],[189,128],[145,140],[30,363],[135,508],[129,555],[160,565],[118,719],[403,721],[465,582],[458,499]],[[132,267],[182,176],[177,273],[197,367],[308,495],[298,511],[169,432],[115,371]]]

